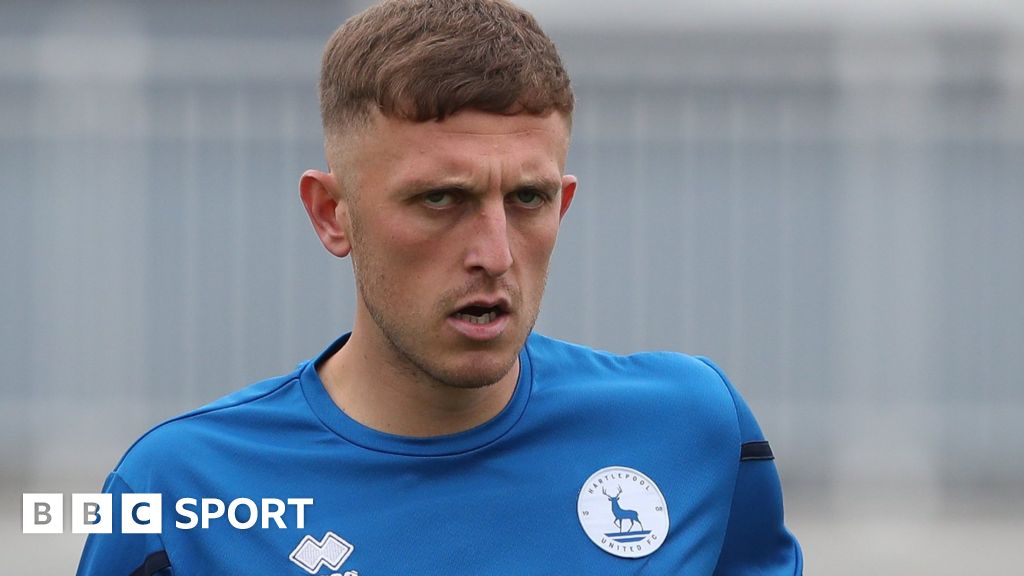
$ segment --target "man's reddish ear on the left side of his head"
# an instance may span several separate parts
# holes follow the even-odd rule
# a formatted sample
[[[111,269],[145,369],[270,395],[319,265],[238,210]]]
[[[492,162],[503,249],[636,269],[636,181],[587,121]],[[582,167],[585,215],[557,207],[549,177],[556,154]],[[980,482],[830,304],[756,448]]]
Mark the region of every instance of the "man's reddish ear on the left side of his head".
[[[333,173],[306,170],[299,180],[299,196],[309,221],[328,252],[344,258],[352,251],[349,238],[348,206],[340,200],[341,190]]]

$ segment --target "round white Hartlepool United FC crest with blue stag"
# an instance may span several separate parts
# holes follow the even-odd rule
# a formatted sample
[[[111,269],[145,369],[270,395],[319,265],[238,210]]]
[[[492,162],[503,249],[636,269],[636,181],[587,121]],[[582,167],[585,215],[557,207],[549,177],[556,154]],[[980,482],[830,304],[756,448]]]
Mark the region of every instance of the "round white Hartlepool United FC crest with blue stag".
[[[669,508],[646,475],[625,466],[601,468],[580,489],[580,525],[591,541],[620,558],[654,552],[669,534]]]

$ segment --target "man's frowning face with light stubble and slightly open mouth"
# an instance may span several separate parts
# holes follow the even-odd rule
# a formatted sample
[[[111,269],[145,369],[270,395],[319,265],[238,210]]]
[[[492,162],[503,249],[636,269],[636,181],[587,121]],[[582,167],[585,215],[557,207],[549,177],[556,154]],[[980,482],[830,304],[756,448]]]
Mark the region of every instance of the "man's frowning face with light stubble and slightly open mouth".
[[[335,163],[358,287],[352,337],[444,385],[509,374],[575,190],[562,174],[568,137],[558,114],[377,115]]]

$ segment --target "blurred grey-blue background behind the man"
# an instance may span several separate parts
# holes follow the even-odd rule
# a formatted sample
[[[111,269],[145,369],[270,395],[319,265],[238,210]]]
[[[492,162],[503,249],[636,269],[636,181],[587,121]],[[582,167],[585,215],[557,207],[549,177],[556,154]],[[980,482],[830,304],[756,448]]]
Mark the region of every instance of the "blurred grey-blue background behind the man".
[[[0,572],[24,492],[350,325],[297,182],[367,2],[0,2]],[[808,574],[1024,562],[1024,3],[523,0],[581,179],[538,329],[714,358]]]

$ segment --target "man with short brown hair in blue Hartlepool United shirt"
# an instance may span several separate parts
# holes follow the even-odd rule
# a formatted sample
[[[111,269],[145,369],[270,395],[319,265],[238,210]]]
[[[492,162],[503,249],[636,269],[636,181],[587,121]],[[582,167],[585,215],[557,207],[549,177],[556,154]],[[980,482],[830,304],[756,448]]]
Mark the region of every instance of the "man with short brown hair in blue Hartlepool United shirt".
[[[717,368],[531,333],[577,179],[529,14],[386,1],[329,42],[321,101],[330,171],[299,189],[352,258],[351,332],[136,443],[105,491],[161,494],[163,530],[115,521],[80,575],[802,572]]]

